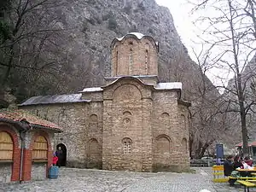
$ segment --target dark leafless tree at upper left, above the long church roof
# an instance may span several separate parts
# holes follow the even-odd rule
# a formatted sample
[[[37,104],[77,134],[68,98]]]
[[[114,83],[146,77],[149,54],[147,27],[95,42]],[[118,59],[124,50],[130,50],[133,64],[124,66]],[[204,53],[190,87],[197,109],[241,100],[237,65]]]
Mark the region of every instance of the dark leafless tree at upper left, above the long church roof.
[[[18,102],[28,96],[68,91],[66,82],[76,56],[66,49],[61,15],[63,1],[12,0],[3,11],[0,26],[0,83]],[[1,28],[1,27],[0,27]],[[61,91],[63,90],[63,91]],[[20,96],[20,98],[19,98]]]

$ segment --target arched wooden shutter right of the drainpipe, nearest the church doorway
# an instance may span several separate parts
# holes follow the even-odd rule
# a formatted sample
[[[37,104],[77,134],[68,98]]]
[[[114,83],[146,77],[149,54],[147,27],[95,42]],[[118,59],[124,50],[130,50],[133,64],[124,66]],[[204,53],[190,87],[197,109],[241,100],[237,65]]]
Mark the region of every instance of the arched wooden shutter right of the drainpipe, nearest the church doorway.
[[[32,150],[32,160],[47,160],[48,144],[43,136],[38,136]]]

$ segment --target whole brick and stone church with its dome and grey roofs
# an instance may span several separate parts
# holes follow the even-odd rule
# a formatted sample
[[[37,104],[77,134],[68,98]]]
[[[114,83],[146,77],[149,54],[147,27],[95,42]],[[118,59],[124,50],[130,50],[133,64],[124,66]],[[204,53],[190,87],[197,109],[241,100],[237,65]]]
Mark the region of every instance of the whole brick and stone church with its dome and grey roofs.
[[[190,103],[182,84],[160,83],[159,44],[131,32],[111,44],[111,77],[77,94],[33,96],[20,108],[63,128],[63,166],[135,172],[189,169]]]

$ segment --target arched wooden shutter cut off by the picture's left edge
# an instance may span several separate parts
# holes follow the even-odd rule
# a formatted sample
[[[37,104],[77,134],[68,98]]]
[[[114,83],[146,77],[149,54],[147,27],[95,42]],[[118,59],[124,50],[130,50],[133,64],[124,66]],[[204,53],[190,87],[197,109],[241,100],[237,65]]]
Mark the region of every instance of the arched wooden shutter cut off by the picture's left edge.
[[[9,133],[0,131],[0,160],[13,160],[14,143]]]

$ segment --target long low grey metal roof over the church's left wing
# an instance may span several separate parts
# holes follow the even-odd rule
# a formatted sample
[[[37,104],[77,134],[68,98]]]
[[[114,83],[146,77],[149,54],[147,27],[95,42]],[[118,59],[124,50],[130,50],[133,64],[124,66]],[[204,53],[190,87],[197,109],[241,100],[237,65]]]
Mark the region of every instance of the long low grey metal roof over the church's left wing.
[[[20,106],[65,102],[90,102],[90,100],[83,100],[82,93],[55,96],[32,96],[26,100],[26,102],[21,103]]]

